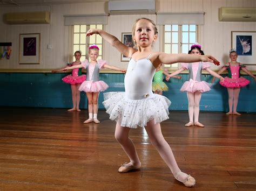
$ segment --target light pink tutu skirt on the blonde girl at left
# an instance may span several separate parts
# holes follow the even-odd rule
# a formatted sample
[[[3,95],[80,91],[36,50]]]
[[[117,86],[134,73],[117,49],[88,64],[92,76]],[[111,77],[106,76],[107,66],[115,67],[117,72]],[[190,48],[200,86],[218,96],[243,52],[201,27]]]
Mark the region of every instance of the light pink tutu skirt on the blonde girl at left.
[[[99,91],[105,91],[109,86],[103,81],[84,81],[80,87],[79,91],[85,91],[85,92],[99,92]]]

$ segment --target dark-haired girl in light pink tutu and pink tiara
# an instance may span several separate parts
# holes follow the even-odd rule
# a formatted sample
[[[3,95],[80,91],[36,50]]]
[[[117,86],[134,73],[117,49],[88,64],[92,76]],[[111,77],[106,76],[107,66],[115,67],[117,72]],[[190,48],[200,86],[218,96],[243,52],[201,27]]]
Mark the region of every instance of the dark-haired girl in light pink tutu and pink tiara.
[[[201,45],[195,43],[191,46],[191,54],[192,55],[204,55],[204,52],[201,50]],[[187,92],[188,99],[188,116],[190,121],[185,124],[185,126],[200,126],[204,127],[198,121],[199,118],[199,103],[201,100],[202,93],[211,90],[211,84],[201,80],[201,71],[206,70],[211,75],[218,77],[220,81],[223,81],[224,78],[213,72],[210,69],[210,65],[207,62],[196,62],[196,63],[182,63],[181,68],[176,72],[166,76],[166,80],[169,81],[170,77],[181,73],[183,70],[187,69],[189,71],[189,81],[186,81],[181,87],[180,91]]]

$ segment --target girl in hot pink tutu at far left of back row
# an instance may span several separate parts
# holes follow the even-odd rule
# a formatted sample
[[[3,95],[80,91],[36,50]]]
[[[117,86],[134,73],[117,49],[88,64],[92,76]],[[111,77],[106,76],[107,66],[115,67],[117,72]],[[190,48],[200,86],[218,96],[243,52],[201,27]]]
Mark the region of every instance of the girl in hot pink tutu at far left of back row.
[[[76,61],[72,62],[72,64],[69,66],[76,66],[81,63],[80,62],[80,58],[81,58],[80,51],[75,52],[75,58],[76,58]],[[63,71],[66,68],[68,68],[69,66],[66,66],[65,68],[61,68],[61,69],[52,70],[52,73]],[[69,83],[71,86],[71,91],[72,91],[73,108],[69,109],[68,111],[81,111],[79,109],[80,91],[78,90],[78,88],[79,88],[80,84],[85,80],[86,80],[86,75],[82,74],[82,68],[72,69],[72,74],[63,77],[62,81],[65,83]]]

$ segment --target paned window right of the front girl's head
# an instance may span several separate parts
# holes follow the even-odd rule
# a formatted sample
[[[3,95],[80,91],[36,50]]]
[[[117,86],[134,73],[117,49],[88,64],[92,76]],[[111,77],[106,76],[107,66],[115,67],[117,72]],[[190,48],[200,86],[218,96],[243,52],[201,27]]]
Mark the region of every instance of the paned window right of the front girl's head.
[[[197,33],[197,25],[164,25],[164,52],[188,53],[191,45],[197,41]],[[178,67],[178,63],[171,67]]]

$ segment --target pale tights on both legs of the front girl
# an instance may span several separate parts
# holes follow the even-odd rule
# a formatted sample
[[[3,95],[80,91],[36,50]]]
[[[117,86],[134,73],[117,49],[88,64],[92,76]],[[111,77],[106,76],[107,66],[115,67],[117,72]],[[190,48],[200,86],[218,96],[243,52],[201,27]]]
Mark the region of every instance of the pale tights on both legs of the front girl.
[[[150,138],[151,144],[154,147],[156,147],[161,158],[163,158],[166,165],[171,169],[171,172],[173,173],[173,175],[176,175],[178,172],[180,172],[180,169],[174,158],[171,147],[166,142],[166,140],[163,137],[163,134],[161,133],[160,124],[159,123],[154,124],[154,121],[152,120],[147,123],[147,126],[145,129],[147,131],[147,135]],[[120,126],[120,122],[118,121],[114,136],[117,139],[117,141],[120,143],[120,145],[123,147],[126,154],[128,155],[130,162],[134,166],[137,166],[138,164],[140,164],[140,160],[136,152],[136,148],[132,140],[129,138],[129,131],[130,131],[130,128],[124,128]],[[181,180],[185,180],[186,177],[187,177],[187,174],[185,173],[182,173],[180,175]]]

